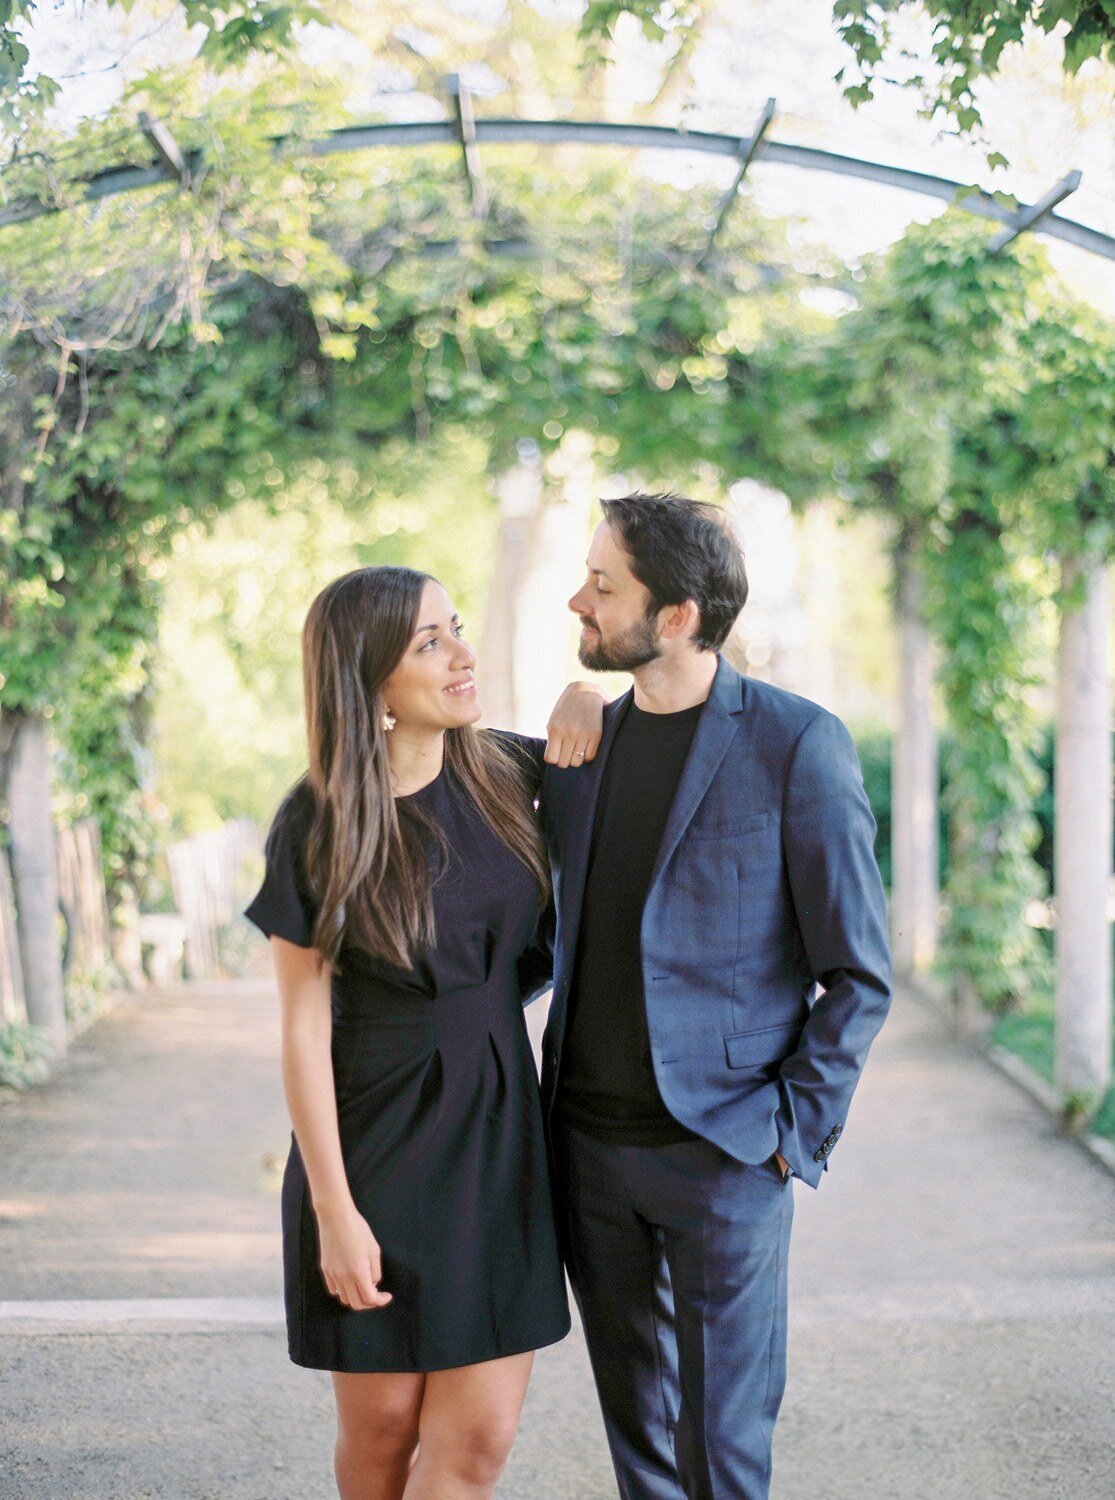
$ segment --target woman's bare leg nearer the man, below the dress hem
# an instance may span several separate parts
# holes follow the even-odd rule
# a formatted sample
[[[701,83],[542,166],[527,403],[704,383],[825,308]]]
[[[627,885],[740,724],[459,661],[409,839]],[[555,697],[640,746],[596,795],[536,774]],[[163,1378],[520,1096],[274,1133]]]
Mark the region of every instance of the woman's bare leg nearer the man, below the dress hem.
[[[419,1456],[405,1500],[489,1500],[515,1434],[534,1354],[426,1376]]]

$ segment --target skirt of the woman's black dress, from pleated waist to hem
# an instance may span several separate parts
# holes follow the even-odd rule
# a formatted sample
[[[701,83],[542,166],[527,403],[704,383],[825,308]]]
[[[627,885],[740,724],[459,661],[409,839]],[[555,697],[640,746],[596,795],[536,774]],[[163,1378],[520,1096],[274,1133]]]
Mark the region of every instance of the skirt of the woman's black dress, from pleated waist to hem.
[[[369,996],[333,1023],[350,1190],[383,1251],[384,1308],[321,1276],[297,1143],[282,1185],[290,1356],[339,1371],[434,1371],[569,1332],[542,1108],[522,1008],[495,980]]]

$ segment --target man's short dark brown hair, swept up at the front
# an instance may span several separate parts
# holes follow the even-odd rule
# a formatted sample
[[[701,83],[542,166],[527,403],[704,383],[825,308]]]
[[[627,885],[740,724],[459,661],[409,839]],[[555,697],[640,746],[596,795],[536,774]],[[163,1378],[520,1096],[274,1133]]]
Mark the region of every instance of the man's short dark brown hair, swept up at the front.
[[[701,614],[695,642],[719,651],[747,602],[743,549],[719,506],[684,495],[624,495],[600,501],[605,520],[650,590],[647,615],[692,598]]]

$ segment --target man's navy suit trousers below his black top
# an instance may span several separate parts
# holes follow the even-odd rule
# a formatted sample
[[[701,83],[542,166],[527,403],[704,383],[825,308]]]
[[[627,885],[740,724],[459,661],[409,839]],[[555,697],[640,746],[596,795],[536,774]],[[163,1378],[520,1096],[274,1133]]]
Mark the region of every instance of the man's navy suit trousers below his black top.
[[[569,1280],[621,1500],[767,1500],[794,1190],[771,1158],[561,1126]]]

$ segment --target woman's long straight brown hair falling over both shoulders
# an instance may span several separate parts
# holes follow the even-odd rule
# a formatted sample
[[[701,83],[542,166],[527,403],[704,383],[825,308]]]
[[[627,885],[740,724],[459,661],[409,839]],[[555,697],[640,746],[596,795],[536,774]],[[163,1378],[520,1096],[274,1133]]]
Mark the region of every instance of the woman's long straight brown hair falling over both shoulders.
[[[437,936],[429,855],[444,856],[444,840],[420,808],[396,804],[383,722],[383,684],[410,645],[428,582],[407,567],[356,568],[323,588],[302,632],[314,795],[306,879],[318,903],[312,942],[330,964],[351,945],[408,969]],[[549,872],[515,752],[471,724],[447,729],[446,766],[545,904]]]

